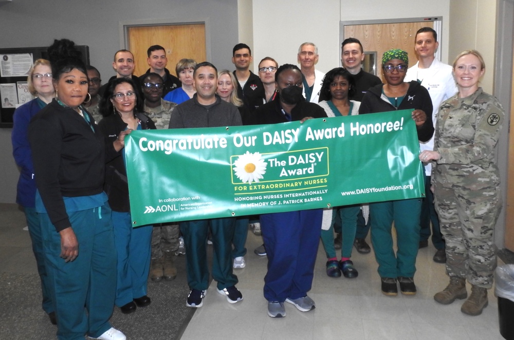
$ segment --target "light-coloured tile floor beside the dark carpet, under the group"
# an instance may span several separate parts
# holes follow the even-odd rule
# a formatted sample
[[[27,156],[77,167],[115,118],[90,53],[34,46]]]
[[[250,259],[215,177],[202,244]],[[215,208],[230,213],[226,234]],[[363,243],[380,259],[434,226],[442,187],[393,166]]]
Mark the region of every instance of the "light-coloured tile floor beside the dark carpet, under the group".
[[[267,260],[253,254],[261,243],[262,239],[249,231],[246,268],[234,270],[244,300],[234,305],[227,303],[226,298],[216,292],[213,281],[203,307],[196,311],[182,340],[503,339],[493,289],[488,292],[489,306],[480,316],[463,314],[460,310],[463,300],[448,306],[434,301],[433,295],[446,287],[448,277],[445,266],[432,261],[435,249],[431,244],[421,249],[417,257],[414,277],[417,294],[389,297],[380,291],[373,252],[361,255],[354,251],[353,261],[359,271],[357,278],[331,278],[325,274],[326,260],[320,243],[313,289],[309,292],[316,301],[316,309],[302,313],[285,304],[287,316],[271,318],[266,313],[267,301],[262,291]]]

